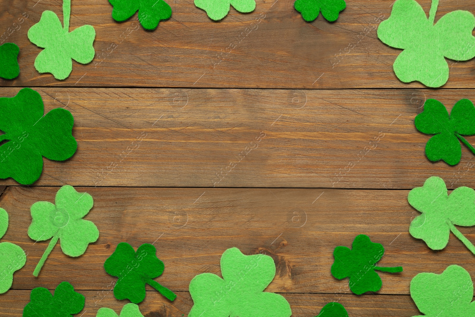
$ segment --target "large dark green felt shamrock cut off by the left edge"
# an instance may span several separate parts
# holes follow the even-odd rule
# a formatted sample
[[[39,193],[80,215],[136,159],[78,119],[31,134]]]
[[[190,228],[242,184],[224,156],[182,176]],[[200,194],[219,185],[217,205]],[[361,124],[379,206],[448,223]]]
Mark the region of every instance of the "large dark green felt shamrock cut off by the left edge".
[[[72,135],[73,116],[65,109],[53,109],[44,115],[41,96],[30,88],[23,88],[17,96],[0,98],[1,140],[0,178],[12,177],[20,184],[38,180],[45,156],[64,161],[76,152]]]

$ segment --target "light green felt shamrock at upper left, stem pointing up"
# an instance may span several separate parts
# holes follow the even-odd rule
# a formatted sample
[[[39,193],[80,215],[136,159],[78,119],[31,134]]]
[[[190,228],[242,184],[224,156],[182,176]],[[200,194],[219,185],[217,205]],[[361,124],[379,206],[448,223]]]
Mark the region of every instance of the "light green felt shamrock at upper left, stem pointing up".
[[[95,29],[83,25],[69,32],[71,0],[63,0],[64,28],[56,13],[44,11],[41,19],[28,30],[29,40],[44,48],[35,59],[40,73],[51,73],[56,79],[66,79],[73,70],[73,61],[90,63],[95,56]]]

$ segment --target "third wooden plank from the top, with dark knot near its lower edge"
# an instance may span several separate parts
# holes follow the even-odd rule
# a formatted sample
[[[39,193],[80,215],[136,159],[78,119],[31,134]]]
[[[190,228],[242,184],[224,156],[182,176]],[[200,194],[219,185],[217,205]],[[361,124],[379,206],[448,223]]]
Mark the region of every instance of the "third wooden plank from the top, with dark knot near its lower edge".
[[[29,208],[37,201],[54,202],[57,189],[11,186],[0,198],[11,220],[2,241],[28,252],[13,289],[51,289],[65,279],[77,289],[105,288],[115,278],[105,273],[103,263],[122,241],[135,248],[155,245],[165,263],[158,281],[174,291],[188,290],[199,273],[220,274],[222,252],[238,247],[244,254],[273,257],[276,278],[269,291],[347,293],[348,279],[339,281],[330,273],[333,249],[351,246],[361,233],[385,247],[380,266],[404,268],[400,274],[380,273],[381,294],[409,294],[416,274],[441,273],[454,263],[475,271],[474,255],[454,236],[446,249],[435,252],[409,235],[409,223],[419,213],[409,206],[408,191],[79,187],[78,192],[94,197],[86,219],[97,225],[99,240],[80,258],[67,257],[56,246],[34,278],[48,241],[28,238]],[[460,231],[475,241],[474,228]]]

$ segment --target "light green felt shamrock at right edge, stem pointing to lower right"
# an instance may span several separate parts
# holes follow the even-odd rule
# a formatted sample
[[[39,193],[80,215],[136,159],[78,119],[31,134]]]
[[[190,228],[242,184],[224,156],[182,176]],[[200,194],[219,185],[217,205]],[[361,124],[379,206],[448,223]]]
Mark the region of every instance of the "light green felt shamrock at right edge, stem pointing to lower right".
[[[454,226],[475,225],[473,189],[458,187],[449,195],[444,180],[432,176],[424,182],[424,186],[409,192],[408,201],[422,213],[409,226],[409,233],[414,238],[424,240],[432,250],[442,250],[447,246],[452,231],[475,254],[473,244]]]

